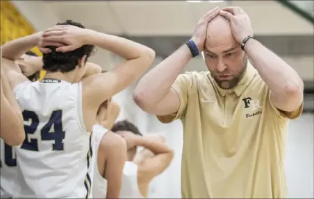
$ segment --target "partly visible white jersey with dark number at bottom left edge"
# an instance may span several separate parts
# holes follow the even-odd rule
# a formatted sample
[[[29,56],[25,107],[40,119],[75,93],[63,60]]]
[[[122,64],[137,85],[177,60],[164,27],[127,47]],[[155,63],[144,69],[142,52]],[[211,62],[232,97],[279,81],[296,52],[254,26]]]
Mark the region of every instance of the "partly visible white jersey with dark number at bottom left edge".
[[[0,198],[10,198],[15,189],[15,178],[17,175],[17,159],[15,157],[15,148],[8,146],[3,139],[0,143],[1,162],[0,162]]]

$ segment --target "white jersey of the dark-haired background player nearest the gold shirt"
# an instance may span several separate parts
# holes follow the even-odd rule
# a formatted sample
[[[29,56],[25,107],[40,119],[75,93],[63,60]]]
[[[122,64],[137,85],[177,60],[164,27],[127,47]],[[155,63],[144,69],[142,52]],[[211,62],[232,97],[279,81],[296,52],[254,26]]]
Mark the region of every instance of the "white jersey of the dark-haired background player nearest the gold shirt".
[[[138,189],[138,165],[134,162],[124,164],[120,198],[144,198]]]

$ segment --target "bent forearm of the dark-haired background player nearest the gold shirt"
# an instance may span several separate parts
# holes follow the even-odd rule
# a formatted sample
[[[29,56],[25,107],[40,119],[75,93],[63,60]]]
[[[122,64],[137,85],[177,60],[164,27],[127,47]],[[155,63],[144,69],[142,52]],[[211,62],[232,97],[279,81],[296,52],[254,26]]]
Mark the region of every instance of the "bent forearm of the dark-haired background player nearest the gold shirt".
[[[149,138],[140,137],[140,136],[135,140],[135,145],[147,148],[148,150],[151,150],[151,152],[154,153],[155,155],[160,154],[160,153],[172,152],[172,149],[166,144],[163,144],[163,142],[154,141]]]

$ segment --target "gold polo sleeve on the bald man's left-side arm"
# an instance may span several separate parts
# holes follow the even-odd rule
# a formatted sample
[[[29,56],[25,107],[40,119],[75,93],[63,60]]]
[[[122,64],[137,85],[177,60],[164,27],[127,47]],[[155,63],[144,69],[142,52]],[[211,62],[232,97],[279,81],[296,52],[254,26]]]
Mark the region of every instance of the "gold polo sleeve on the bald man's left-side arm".
[[[174,81],[171,89],[174,89],[176,94],[180,99],[180,107],[178,112],[173,114],[157,116],[157,119],[162,123],[170,123],[176,119],[181,119],[183,114],[185,114],[186,106],[188,104],[188,92],[192,87],[192,74],[190,72],[183,73],[179,75]]]

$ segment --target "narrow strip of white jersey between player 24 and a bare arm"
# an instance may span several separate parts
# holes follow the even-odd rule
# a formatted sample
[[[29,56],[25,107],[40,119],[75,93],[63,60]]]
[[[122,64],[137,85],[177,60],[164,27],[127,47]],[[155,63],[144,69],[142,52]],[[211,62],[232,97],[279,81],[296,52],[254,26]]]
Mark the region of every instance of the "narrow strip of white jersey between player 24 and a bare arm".
[[[104,135],[108,132],[106,128],[97,124],[92,128],[92,136],[94,137],[95,159],[98,157],[99,144]],[[106,198],[107,180],[100,175],[97,161],[94,164],[94,182],[92,183],[92,198]]]

